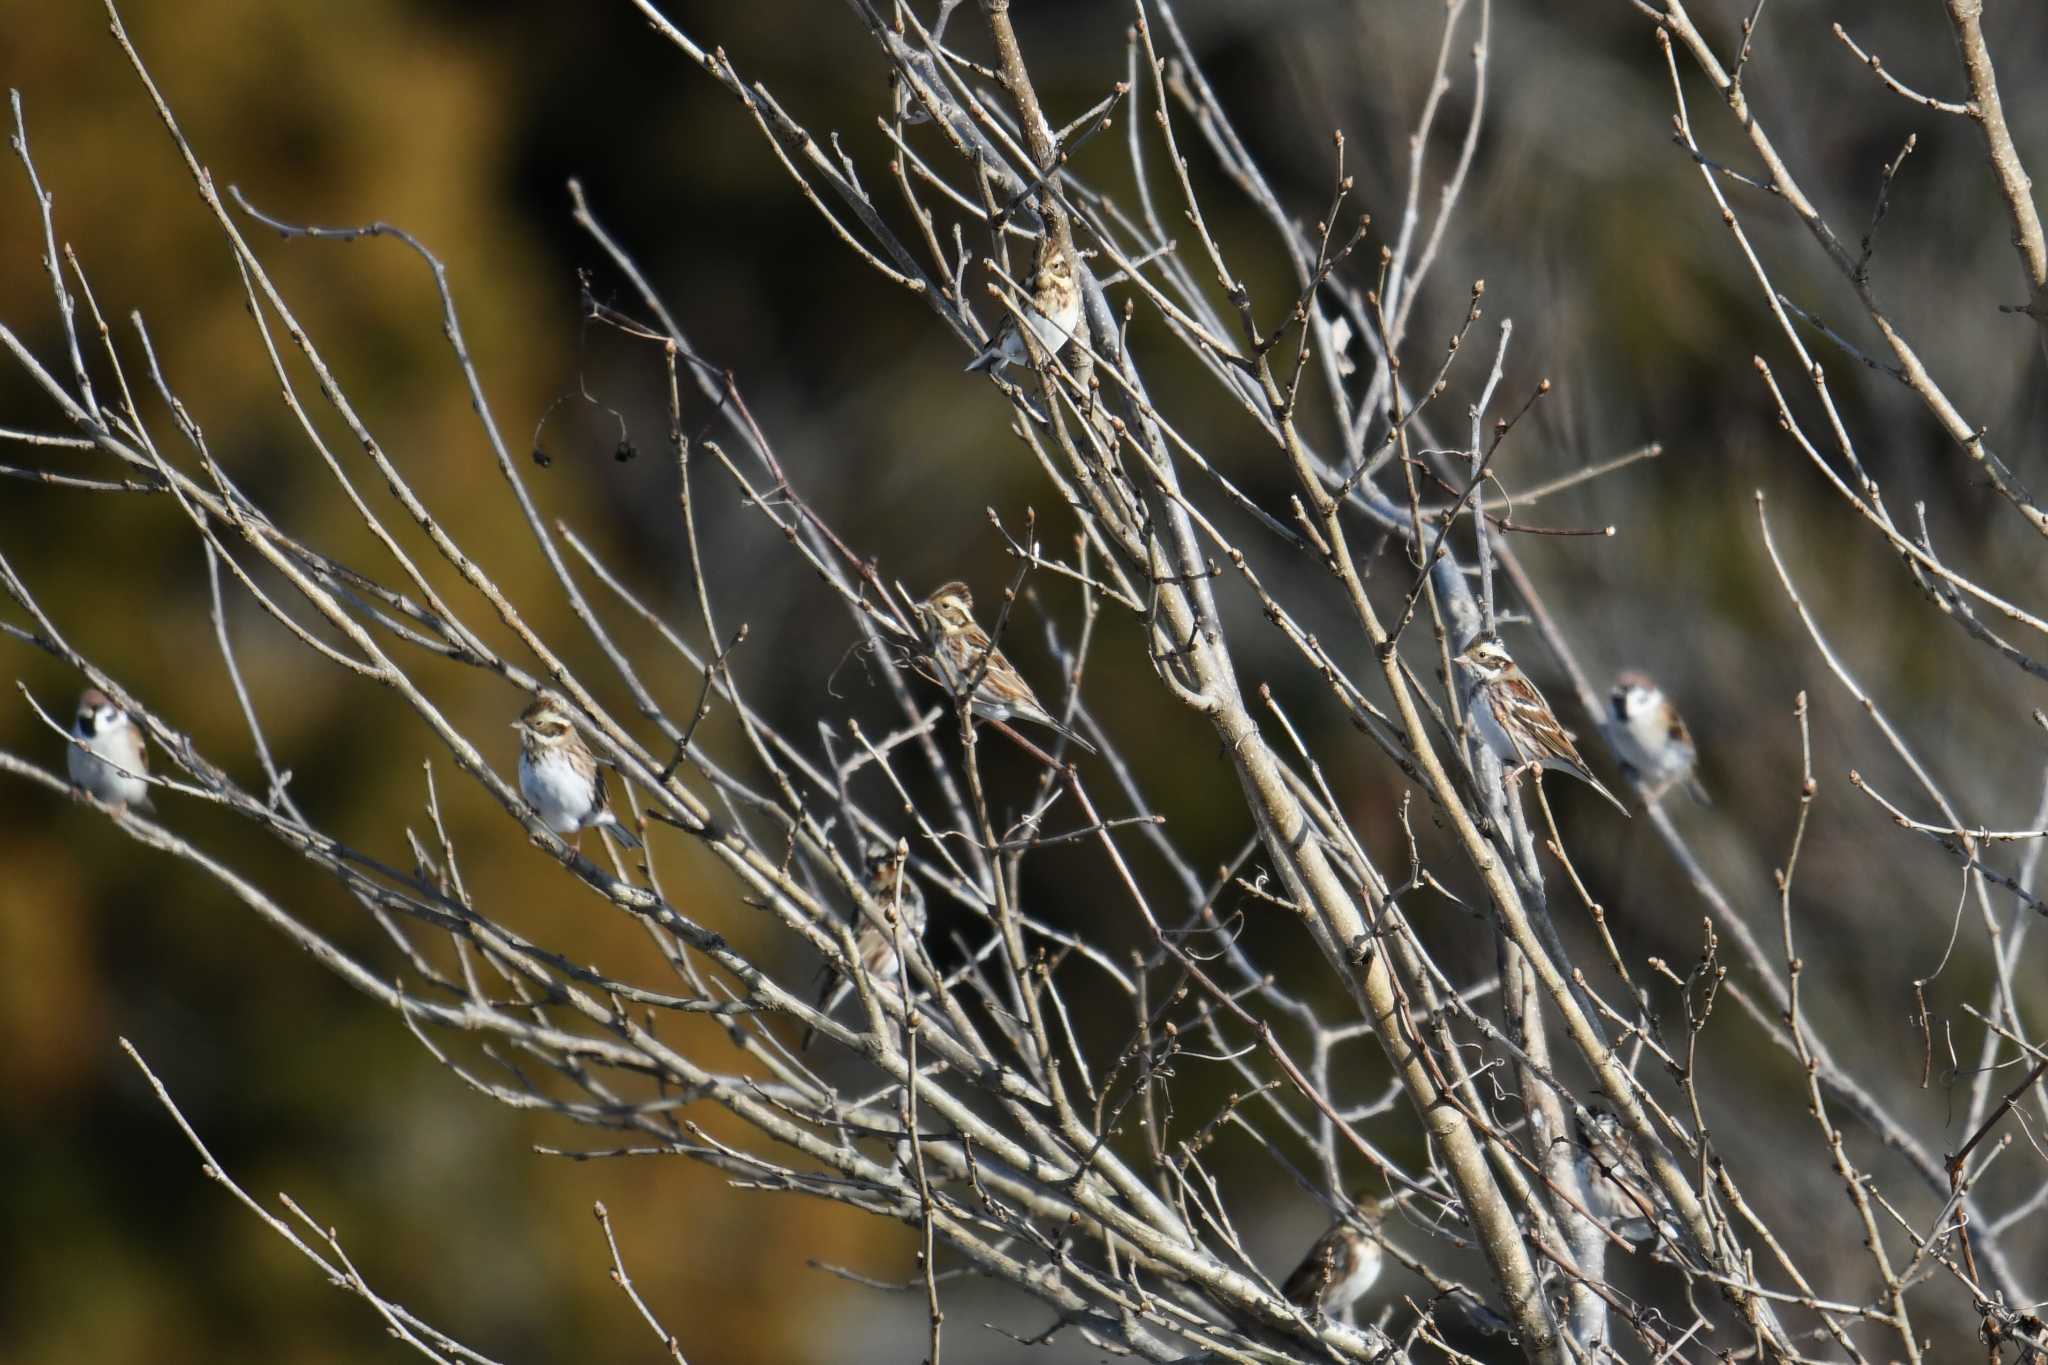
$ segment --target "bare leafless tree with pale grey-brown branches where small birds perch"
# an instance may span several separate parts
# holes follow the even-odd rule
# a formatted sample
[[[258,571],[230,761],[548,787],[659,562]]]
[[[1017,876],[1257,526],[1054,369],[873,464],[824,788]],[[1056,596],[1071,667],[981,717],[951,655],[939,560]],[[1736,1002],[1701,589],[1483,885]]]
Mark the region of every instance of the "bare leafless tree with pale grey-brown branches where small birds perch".
[[[631,299],[614,307],[590,295],[588,321],[641,346],[670,397],[668,458],[696,610],[670,620],[649,606],[631,571],[539,514],[526,454],[500,430],[471,364],[442,260],[395,225],[303,227],[276,205],[223,196],[109,6],[121,49],[233,252],[254,342],[301,422],[297,458],[322,463],[330,495],[346,499],[381,546],[377,563],[342,563],[336,548],[293,530],[291,510],[264,508],[215,460],[201,413],[178,401],[143,319],[111,323],[84,262],[59,252],[31,156],[33,119],[16,96],[14,147],[43,207],[43,264],[66,344],[35,354],[0,327],[12,364],[47,399],[0,432],[35,460],[4,473],[92,497],[156,493],[184,518],[207,548],[219,624],[211,645],[248,722],[248,753],[201,753],[152,708],[147,677],[117,677],[74,649],[68,622],[39,604],[35,565],[0,557],[0,585],[18,612],[0,628],[76,667],[168,757],[152,778],[160,814],[102,806],[109,821],[205,870],[393,1011],[483,1095],[616,1132],[623,1146],[604,1152],[614,1158],[684,1154],[754,1189],[911,1224],[924,1242],[918,1291],[932,1361],[946,1347],[975,1349],[956,1345],[963,1328],[944,1316],[948,1283],[963,1275],[1038,1300],[1040,1342],[1079,1336],[1157,1361],[1921,1361],[1970,1349],[2044,1359],[2048,1326],[2034,1304],[2048,1293],[2048,1238],[2038,1230],[2048,1179],[2036,1130],[2048,1099],[2036,1083],[2048,1050],[2023,1019],[2023,950],[2032,917],[2048,911],[2034,892],[2048,806],[2011,829],[1964,821],[1917,757],[1915,737],[1831,649],[1829,622],[1808,610],[1780,555],[1788,532],[1759,493],[1759,532],[1829,686],[1853,698],[1917,784],[1880,792],[1853,778],[1855,790],[1905,839],[1946,851],[1964,888],[1956,952],[1987,984],[1952,1033],[1968,1076],[1966,1119],[1962,1138],[1944,1144],[1907,1115],[1892,1081],[1866,1083],[1837,1060],[1839,1040],[1802,990],[1810,948],[1800,847],[1821,790],[1804,694],[1796,704],[1759,698],[1755,708],[1755,724],[1800,755],[1776,855],[1774,931],[1759,933],[1759,917],[1718,886],[1655,784],[1628,788],[1634,819],[1698,892],[1690,964],[1630,962],[1575,870],[1573,847],[1595,837],[1587,825],[1622,817],[1587,804],[1575,806],[1579,821],[1556,821],[1540,774],[1503,774],[1479,741],[1475,677],[1454,661],[1503,630],[1526,661],[1548,659],[1569,679],[1552,690],[1561,714],[1595,726],[1610,714],[1604,684],[1573,649],[1591,608],[1546,593],[1518,546],[1528,534],[1599,536],[1604,528],[1532,528],[1526,510],[1565,483],[1634,477],[1657,452],[1591,460],[1567,481],[1516,493],[1503,487],[1497,460],[1550,383],[1509,391],[1513,323],[1489,317],[1483,282],[1442,280],[1438,270],[1446,241],[1470,227],[1458,207],[1487,119],[1491,0],[1444,6],[1427,98],[1409,111],[1405,139],[1370,149],[1405,166],[1405,192],[1370,219],[1352,180],[1360,153],[1343,135],[1327,147],[1327,199],[1282,201],[1167,0],[1135,0],[1120,80],[1077,111],[1042,106],[1010,0],[981,0],[971,14],[956,12],[961,0],[850,0],[891,72],[877,115],[895,156],[883,168],[807,131],[715,43],[678,31],[647,0],[635,4],[657,41],[745,108],[760,153],[780,162],[846,266],[930,307],[963,356],[1030,317],[1040,258],[1077,270],[1083,321],[1071,344],[1053,336],[1047,346],[1034,332],[1028,364],[975,381],[989,385],[989,401],[1008,403],[1016,440],[1057,493],[1061,512],[1047,520],[1073,526],[1063,540],[1067,532],[1040,518],[991,512],[1014,573],[1004,600],[983,604],[983,624],[995,647],[1042,630],[1065,673],[1057,686],[1040,677],[1038,694],[1100,755],[1079,755],[1047,729],[1018,729],[1016,716],[977,718],[967,694],[987,681],[993,649],[965,684],[926,661],[932,634],[920,600],[930,585],[897,583],[883,546],[834,528],[834,510],[776,454],[778,415],[750,407],[741,381],[692,348],[686,309],[655,295],[629,244],[571,186],[575,223]],[[1878,92],[1884,98],[1974,123],[2025,276],[2013,307],[2048,356],[2048,241],[2001,113],[1980,8],[1948,0],[1962,98],[1903,86],[1839,29],[1841,49],[1804,59],[1868,61],[1892,88]],[[1944,389],[1944,340],[1907,336],[1872,282],[1886,196],[1913,143],[1886,168],[1868,229],[1831,225],[1743,86],[1765,41],[1763,4],[1720,43],[1679,0],[1636,0],[1634,10],[1667,72],[1673,156],[1698,164],[1700,194],[1749,268],[1749,305],[1796,358],[1757,358],[1759,387],[1729,401],[1774,407],[1786,452],[1806,458],[1870,544],[1896,557],[1925,618],[1915,630],[1954,628],[1954,639],[2048,677],[2030,643],[2048,634],[2048,620],[2023,602],[2034,591],[2023,565],[2040,561],[2038,546],[1958,563],[1933,544],[1923,514],[1894,520],[1860,458],[1868,434],[1851,430],[1833,397],[1831,375],[1849,362],[1894,381],[1952,442],[1937,473],[1989,481],[2007,518],[2048,536],[2048,510],[2017,454]],[[1460,127],[1448,127],[1452,92]],[[1112,166],[1118,137],[1122,164]],[[1100,174],[1081,174],[1081,162]],[[1214,192],[1200,188],[1196,162],[1260,213],[1262,241],[1219,239]],[[1808,252],[1858,311],[1853,327],[1823,323],[1817,307],[1774,282],[1751,237],[1763,215],[1806,229]],[[522,604],[416,493],[375,413],[348,397],[266,272],[252,229],[387,237],[428,268],[510,516],[545,555],[608,675],[573,669],[575,651],[530,628]],[[1247,278],[1286,282],[1253,289]],[[1419,327],[1417,305],[1432,291],[1458,303],[1448,344]],[[1165,348],[1178,350],[1147,375],[1135,352]],[[301,372],[313,375],[311,387]],[[1204,438],[1200,413],[1214,411],[1219,395],[1243,413],[1257,454]],[[692,430],[686,403],[715,415]],[[352,450],[324,436],[332,420],[352,434]],[[1276,487],[1286,493],[1276,497]],[[733,505],[754,534],[721,526],[721,551],[705,553],[707,518]],[[750,675],[774,665],[748,655],[745,618],[715,610],[713,583],[723,575],[743,591],[750,567],[770,557],[797,557],[815,573],[819,602],[838,604],[846,645],[879,679],[868,700],[885,696],[887,710],[854,704],[825,679],[795,720],[756,704]],[[442,585],[449,571],[459,589]],[[408,827],[412,866],[379,862],[301,810],[289,755],[264,739],[262,688],[246,686],[238,667],[221,606],[236,593],[328,665],[403,698],[434,735],[424,823]],[[1143,653],[1098,643],[1098,622],[1118,616],[1141,626]],[[623,624],[668,653],[635,657]],[[1331,731],[1311,729],[1276,690],[1247,681],[1243,653],[1276,643],[1288,667],[1319,684],[1303,696],[1348,720],[1362,743],[1311,743]],[[545,827],[502,767],[502,737],[449,720],[444,665],[463,669],[469,686],[498,686],[508,718],[543,690],[567,698],[612,765],[614,802],[647,837],[645,853],[629,855],[602,831],[569,843]],[[686,712],[647,681],[678,667],[696,679]],[[958,694],[934,675],[952,677]],[[631,706],[606,706],[604,696]],[[1196,866],[1153,817],[1147,788],[1157,778],[1098,718],[1106,696],[1184,708],[1214,731],[1219,800],[1237,804],[1245,831],[1229,866]],[[2034,722],[2048,726],[2040,710]],[[68,726],[51,716],[51,729]],[[2028,729],[2023,714],[2013,729]],[[991,741],[1006,751],[999,763]],[[1010,749],[1034,763],[1010,763]],[[1608,761],[1599,745],[1587,751]],[[248,757],[262,772],[258,786],[231,776]],[[528,941],[506,927],[502,907],[477,902],[463,862],[485,853],[455,847],[440,821],[449,763],[553,853],[563,878],[641,923],[672,978],[621,980],[580,966],[573,941]],[[1348,819],[1327,780],[1337,765],[1374,765],[1403,792],[1401,837],[1374,839]],[[41,755],[0,753],[0,767],[49,798],[70,790],[59,739]],[[182,802],[225,806],[246,825],[233,839],[197,843],[178,833]],[[238,874],[246,841],[262,837],[344,886],[385,935],[383,952],[340,950],[289,900]],[[678,843],[723,866],[723,902],[680,905],[664,890]],[[598,845],[604,857],[594,857]],[[1032,905],[1026,870],[1071,845],[1092,860],[1092,915],[1143,923],[1147,952],[1124,960]],[[1884,878],[1890,857],[1872,849],[1866,874]],[[922,939],[911,898],[932,907]],[[721,933],[733,917],[766,917],[784,945],[805,952],[741,952]],[[1257,919],[1292,925],[1292,941],[1315,952],[1255,956],[1243,929]],[[829,980],[850,982],[850,1007],[819,1007],[817,960]],[[1077,1027],[1081,997],[1092,1009],[1116,1003],[1118,1040]],[[1757,1089],[1716,1050],[1731,1013],[1796,1058],[1796,1085]],[[707,1054],[676,1042],[686,1015],[715,1019],[727,1048]],[[805,1033],[819,1046],[799,1048]],[[1929,1036],[1929,1054],[1933,1046]],[[1196,1074],[1227,1091],[1214,1111],[1176,1105]],[[725,1109],[754,1142],[715,1140],[692,1121],[696,1105]],[[1712,1117],[1745,1107],[1792,1115],[1782,1132],[1794,1140],[1765,1148]],[[201,1146],[197,1132],[186,1136]],[[1882,1152],[1882,1175],[1864,1164],[1866,1150]],[[1389,1300],[1362,1324],[1290,1302],[1278,1285],[1292,1267],[1260,1265],[1241,1238],[1247,1160],[1270,1162],[1333,1218],[1362,1195],[1384,1201],[1372,1236],[1423,1291]],[[334,1230],[270,1212],[207,1162],[422,1355],[485,1359],[371,1287]],[[1782,1197],[1772,1162],[1815,1179],[1833,1173],[1862,1234],[1860,1263]],[[602,1209],[600,1220],[631,1308],[684,1359],[688,1340],[635,1291]],[[1976,1347],[1960,1340],[1970,1328]]]

